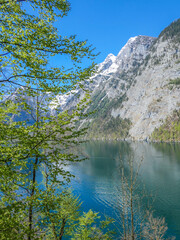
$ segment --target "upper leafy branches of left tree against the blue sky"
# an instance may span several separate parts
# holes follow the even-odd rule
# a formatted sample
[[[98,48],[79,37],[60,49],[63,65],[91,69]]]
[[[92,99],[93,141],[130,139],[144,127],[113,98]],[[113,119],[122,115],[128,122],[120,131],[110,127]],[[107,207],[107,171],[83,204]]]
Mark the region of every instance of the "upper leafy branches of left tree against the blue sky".
[[[76,40],[76,36],[58,35],[54,22],[67,15],[68,1],[33,0],[27,4],[30,11],[18,0],[0,2],[1,93],[11,85],[35,85],[38,90],[56,94],[66,92],[90,76],[94,64],[82,69],[79,63],[84,57],[92,59],[93,49],[87,41]],[[57,54],[67,55],[74,68],[50,67],[49,57]]]

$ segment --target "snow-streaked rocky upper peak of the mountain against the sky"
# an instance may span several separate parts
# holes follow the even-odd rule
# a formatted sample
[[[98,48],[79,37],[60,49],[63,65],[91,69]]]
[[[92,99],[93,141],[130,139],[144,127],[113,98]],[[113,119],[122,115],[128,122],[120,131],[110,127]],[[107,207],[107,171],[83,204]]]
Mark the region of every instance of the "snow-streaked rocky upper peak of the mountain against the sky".
[[[155,38],[146,36],[133,37],[117,56],[109,54],[105,61],[99,64],[99,74],[92,78],[97,83],[93,94],[102,89],[110,99],[123,95],[133,81],[134,71],[147,56],[154,40]]]

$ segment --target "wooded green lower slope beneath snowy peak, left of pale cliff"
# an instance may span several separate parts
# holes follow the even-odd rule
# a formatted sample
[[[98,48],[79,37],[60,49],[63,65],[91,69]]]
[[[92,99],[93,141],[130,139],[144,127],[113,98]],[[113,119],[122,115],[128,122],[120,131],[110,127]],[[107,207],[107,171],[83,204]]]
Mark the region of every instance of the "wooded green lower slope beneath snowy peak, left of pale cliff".
[[[111,116],[112,108],[120,108],[126,99],[126,94],[114,99],[109,99],[105,91],[96,92],[92,97],[93,104],[91,104],[88,109],[90,112],[94,111],[94,113],[90,115],[92,121],[84,124],[84,127],[88,127],[86,137],[90,139],[126,138],[131,125],[130,120],[120,117],[113,118]]]

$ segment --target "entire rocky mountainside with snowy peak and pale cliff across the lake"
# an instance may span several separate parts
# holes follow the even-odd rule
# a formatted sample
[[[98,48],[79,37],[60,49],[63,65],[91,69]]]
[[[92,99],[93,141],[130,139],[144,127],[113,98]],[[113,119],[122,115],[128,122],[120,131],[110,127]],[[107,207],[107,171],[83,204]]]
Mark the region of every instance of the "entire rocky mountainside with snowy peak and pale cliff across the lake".
[[[84,120],[90,137],[144,140],[180,108],[180,19],[156,39],[130,38],[117,56],[109,54],[89,83],[95,114]],[[176,84],[172,84],[176,83]],[[76,99],[57,97],[63,107]],[[64,101],[68,99],[68,101]],[[82,125],[81,124],[81,125]]]

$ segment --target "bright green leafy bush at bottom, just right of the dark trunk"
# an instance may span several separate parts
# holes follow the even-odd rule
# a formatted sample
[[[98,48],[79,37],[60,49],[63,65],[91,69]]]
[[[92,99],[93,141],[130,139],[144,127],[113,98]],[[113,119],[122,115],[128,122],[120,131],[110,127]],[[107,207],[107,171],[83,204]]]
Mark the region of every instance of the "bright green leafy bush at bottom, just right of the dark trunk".
[[[48,186],[41,208],[38,226],[43,229],[46,239],[59,239],[60,236],[71,236],[77,227],[80,217],[79,199],[70,190],[55,192]]]

